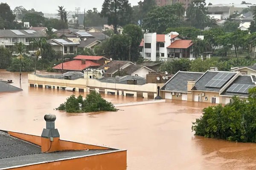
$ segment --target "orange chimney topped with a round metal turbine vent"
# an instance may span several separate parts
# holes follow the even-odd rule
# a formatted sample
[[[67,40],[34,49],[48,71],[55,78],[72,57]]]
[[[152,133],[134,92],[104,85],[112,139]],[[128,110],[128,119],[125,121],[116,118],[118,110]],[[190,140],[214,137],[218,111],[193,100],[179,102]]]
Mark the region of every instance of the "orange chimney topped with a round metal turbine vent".
[[[54,121],[56,120],[56,116],[54,114],[46,114],[44,120],[46,121],[46,129],[43,130],[41,135],[41,151],[58,151],[60,134],[58,133],[58,129],[55,129]]]

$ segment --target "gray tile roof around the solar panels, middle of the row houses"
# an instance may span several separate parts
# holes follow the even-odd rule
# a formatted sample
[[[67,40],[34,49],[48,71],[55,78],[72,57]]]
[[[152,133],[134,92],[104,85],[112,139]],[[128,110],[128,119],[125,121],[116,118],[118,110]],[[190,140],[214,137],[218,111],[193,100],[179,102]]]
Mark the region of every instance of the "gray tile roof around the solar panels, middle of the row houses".
[[[237,74],[236,72],[229,72],[229,71],[222,71],[222,72],[226,72],[226,73],[232,73],[233,76],[224,84],[222,85],[220,88],[212,88],[212,87],[205,87],[205,85],[213,78],[215,77],[218,73],[220,73],[221,71],[207,71],[200,79],[198,79],[197,82],[195,82],[195,87],[192,90],[196,90],[196,91],[213,91],[213,92],[219,92],[221,90],[221,88],[227,83],[229,82],[230,79],[232,79],[232,77],[234,77],[235,74]]]

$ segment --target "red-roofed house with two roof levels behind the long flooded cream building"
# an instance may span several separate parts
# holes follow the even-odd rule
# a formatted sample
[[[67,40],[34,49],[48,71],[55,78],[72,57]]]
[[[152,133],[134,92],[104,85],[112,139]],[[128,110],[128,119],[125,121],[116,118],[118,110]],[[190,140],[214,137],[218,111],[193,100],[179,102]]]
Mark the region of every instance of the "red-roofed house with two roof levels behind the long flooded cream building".
[[[62,62],[55,65],[53,69],[59,71],[84,71],[86,68],[98,68],[108,59],[103,56],[83,56],[78,55],[72,61]]]

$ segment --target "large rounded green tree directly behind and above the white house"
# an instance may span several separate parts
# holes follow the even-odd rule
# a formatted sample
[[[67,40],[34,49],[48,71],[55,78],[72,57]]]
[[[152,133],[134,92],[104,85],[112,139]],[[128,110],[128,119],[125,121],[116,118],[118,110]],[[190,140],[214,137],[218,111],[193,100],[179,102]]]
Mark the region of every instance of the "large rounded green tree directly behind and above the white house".
[[[175,26],[178,17],[175,14],[174,6],[161,6],[153,8],[143,20],[143,28],[150,32],[162,34],[166,28]]]

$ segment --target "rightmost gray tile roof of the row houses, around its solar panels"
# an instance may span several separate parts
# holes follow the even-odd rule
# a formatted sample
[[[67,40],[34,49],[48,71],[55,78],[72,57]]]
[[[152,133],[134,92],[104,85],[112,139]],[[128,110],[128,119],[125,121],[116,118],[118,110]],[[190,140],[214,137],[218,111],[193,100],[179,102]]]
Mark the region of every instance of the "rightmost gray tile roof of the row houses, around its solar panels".
[[[248,93],[236,93],[236,92],[227,92],[227,89],[230,88],[233,84],[242,84],[242,85],[255,85],[255,83],[252,81],[253,79],[256,79],[254,76],[250,75],[242,75],[238,76],[226,89],[221,93],[221,95],[225,96],[241,96],[241,97],[248,97]]]

